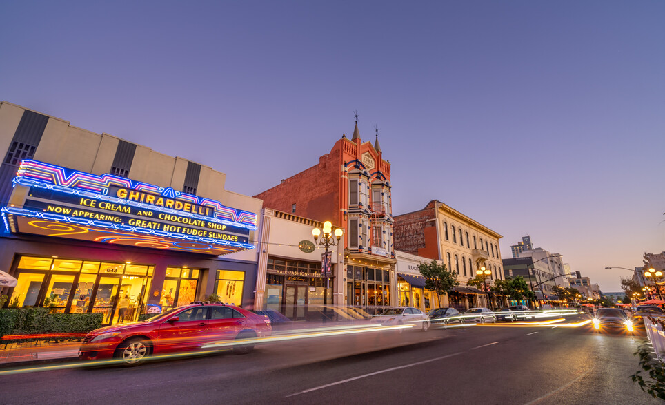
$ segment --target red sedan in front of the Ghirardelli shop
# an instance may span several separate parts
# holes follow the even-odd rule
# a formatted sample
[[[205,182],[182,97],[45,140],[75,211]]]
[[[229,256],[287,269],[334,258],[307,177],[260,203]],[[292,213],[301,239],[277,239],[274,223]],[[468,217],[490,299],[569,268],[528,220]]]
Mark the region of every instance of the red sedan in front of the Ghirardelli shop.
[[[272,333],[270,319],[225,304],[192,303],[143,322],[115,324],[88,333],[79,349],[81,360],[119,359],[144,362],[150,355],[193,351],[221,340],[250,339]],[[233,346],[248,353],[254,344]]]

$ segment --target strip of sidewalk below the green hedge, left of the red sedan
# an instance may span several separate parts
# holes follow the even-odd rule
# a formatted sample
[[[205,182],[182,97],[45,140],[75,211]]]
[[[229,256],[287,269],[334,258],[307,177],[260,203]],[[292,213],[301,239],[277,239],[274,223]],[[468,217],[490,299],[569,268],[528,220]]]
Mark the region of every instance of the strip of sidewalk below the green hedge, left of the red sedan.
[[[81,342],[75,340],[64,342],[11,343],[0,344],[0,367],[20,366],[56,360],[75,360]]]

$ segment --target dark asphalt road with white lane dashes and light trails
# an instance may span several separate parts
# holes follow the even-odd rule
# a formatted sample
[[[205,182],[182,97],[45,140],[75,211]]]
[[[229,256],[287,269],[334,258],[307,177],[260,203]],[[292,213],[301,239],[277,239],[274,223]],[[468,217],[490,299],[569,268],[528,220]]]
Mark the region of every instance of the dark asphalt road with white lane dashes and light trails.
[[[660,404],[630,379],[643,339],[515,324],[319,337],[133,368],[5,371],[0,403]]]

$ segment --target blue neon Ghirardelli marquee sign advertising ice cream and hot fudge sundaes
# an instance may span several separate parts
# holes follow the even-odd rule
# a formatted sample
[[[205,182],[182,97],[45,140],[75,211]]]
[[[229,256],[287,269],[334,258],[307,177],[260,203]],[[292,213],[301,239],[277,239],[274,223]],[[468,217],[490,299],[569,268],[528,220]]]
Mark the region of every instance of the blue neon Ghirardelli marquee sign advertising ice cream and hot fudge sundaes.
[[[14,187],[22,207],[3,207],[8,231],[222,255],[254,249],[257,214],[112,174],[79,172],[23,160]]]

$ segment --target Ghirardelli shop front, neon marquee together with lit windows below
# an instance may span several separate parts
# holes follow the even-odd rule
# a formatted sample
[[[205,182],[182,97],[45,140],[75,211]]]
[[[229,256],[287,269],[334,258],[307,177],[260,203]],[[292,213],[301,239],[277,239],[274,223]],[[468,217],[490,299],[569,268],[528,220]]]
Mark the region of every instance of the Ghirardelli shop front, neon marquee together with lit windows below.
[[[256,215],[173,189],[23,160],[0,260],[18,280],[13,307],[137,320],[217,293],[243,304],[255,263],[218,256],[253,249]]]

